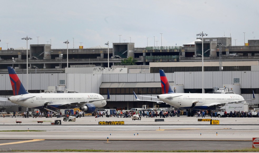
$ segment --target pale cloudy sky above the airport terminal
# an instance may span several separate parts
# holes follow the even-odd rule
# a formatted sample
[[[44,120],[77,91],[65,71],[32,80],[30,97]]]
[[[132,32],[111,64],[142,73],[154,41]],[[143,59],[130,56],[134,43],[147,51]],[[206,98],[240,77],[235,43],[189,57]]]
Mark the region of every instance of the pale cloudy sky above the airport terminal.
[[[28,46],[52,49],[67,48],[66,40],[68,48],[107,41],[110,48],[119,42],[182,46],[202,32],[244,45],[259,39],[258,6],[258,0],[1,0],[0,47],[26,47],[26,36]]]

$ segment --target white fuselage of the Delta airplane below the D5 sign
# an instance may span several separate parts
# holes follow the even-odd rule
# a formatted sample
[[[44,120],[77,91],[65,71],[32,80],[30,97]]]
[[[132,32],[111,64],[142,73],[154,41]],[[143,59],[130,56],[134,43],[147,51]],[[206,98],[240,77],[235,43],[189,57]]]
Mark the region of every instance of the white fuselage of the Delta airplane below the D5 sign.
[[[19,100],[21,98],[32,97],[26,100]],[[102,99],[100,101],[91,102],[95,107],[103,107],[106,105],[106,100],[103,100],[103,96],[97,93],[28,93],[17,96],[11,96],[8,98],[12,103],[28,107],[28,108],[40,108],[44,104],[59,108],[60,105],[66,104],[74,107],[82,107],[87,103],[84,101],[92,101]],[[80,104],[82,102],[82,104]],[[63,105],[64,106],[64,105]]]

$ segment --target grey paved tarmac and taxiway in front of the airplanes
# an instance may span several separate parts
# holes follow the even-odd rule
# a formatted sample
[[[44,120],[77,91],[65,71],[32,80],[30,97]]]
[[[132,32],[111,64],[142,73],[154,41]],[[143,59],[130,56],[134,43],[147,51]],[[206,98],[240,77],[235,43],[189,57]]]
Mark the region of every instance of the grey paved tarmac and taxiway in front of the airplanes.
[[[86,116],[76,118],[76,122],[63,122],[63,118],[56,117],[1,117],[0,150],[239,150],[251,148],[252,138],[259,138],[259,118],[206,116],[206,119],[218,120],[219,125],[198,122],[202,118],[186,116],[164,118],[164,122],[155,122],[155,119],[162,118],[132,120]],[[61,120],[61,125],[52,125],[55,120]],[[124,125],[98,125],[103,121],[124,121]]]

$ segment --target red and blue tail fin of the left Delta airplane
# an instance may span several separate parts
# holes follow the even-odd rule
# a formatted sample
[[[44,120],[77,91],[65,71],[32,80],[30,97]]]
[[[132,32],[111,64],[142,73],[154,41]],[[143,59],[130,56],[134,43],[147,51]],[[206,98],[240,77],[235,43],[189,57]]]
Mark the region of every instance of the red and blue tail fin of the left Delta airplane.
[[[20,94],[27,94],[28,92],[22,85],[22,82],[20,81],[18,75],[14,71],[13,67],[7,67],[8,73],[10,76],[11,85],[13,88],[13,95],[20,95]]]

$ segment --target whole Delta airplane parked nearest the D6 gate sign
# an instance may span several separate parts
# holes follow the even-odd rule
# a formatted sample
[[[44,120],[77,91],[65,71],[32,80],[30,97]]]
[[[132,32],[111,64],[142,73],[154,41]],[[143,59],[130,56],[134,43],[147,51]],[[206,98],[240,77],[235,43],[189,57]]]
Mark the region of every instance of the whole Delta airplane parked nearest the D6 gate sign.
[[[160,103],[166,103],[173,107],[186,109],[191,112],[191,116],[194,111],[192,110],[215,110],[216,105],[226,104],[226,103],[241,103],[249,100],[255,99],[255,93],[253,92],[253,99],[245,100],[239,94],[215,94],[215,93],[175,93],[171,89],[165,72],[163,70],[159,70],[160,79],[161,79],[161,87],[162,94],[157,97],[152,96],[142,96],[142,97],[150,97],[150,98],[158,98],[160,101],[152,101]],[[135,94],[135,92],[134,92]],[[140,100],[135,94],[135,97],[139,101],[147,101]]]

